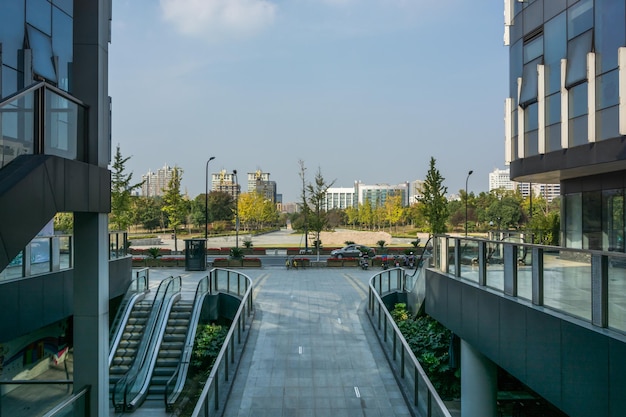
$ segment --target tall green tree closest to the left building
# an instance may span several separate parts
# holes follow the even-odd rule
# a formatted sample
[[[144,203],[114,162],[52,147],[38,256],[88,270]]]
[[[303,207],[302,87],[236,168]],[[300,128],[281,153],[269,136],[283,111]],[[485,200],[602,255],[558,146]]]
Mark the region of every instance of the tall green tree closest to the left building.
[[[132,224],[132,191],[141,187],[143,182],[132,184],[133,174],[126,173],[126,163],[130,156],[124,158],[117,145],[111,172],[111,224],[117,230],[128,230]]]

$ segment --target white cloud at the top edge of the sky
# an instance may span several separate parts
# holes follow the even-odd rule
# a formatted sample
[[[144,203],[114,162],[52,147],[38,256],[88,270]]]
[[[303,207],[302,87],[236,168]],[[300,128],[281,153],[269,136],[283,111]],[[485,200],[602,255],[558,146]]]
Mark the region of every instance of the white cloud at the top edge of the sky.
[[[165,20],[184,34],[241,36],[272,24],[276,5],[267,0],[160,0]]]

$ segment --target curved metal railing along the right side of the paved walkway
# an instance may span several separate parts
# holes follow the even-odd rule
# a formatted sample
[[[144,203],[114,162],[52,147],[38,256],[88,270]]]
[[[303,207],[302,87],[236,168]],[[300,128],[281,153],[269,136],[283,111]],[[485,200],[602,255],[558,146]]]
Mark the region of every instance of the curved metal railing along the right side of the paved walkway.
[[[425,417],[450,417],[450,412],[382,299],[383,295],[404,291],[406,287],[406,275],[402,268],[388,269],[374,275],[369,285],[368,316],[388,353],[391,367],[399,377],[400,386],[417,414]]]

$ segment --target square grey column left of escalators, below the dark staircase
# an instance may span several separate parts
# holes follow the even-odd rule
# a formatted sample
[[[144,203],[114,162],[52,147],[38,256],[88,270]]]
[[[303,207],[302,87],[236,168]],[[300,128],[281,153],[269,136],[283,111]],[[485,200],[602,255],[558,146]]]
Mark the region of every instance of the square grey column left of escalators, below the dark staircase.
[[[109,263],[106,214],[74,213],[74,385],[91,387],[90,414],[109,415]]]

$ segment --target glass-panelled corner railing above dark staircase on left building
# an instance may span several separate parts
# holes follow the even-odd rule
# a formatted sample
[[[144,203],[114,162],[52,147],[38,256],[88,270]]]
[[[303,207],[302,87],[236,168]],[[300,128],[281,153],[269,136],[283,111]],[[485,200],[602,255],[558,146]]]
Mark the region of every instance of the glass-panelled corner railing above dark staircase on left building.
[[[20,155],[83,160],[85,105],[45,82],[0,102],[0,168]]]

